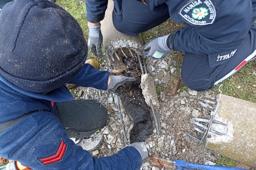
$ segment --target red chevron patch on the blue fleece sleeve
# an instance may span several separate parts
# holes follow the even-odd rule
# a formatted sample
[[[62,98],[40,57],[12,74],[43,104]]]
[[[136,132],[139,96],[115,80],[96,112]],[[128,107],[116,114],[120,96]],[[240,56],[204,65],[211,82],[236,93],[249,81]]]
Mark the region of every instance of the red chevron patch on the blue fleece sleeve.
[[[39,158],[39,160],[44,165],[48,165],[48,164],[58,162],[58,161],[62,160],[62,157],[65,154],[66,148],[67,148],[67,144],[62,140],[60,142],[59,149],[56,151],[56,153],[54,155],[51,155],[49,157]]]

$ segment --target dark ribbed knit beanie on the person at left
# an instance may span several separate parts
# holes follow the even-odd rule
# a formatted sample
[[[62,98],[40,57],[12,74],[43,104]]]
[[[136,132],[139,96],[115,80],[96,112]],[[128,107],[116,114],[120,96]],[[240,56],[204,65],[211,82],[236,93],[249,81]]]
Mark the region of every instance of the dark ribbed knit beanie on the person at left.
[[[0,12],[0,74],[19,88],[47,92],[71,81],[87,57],[82,29],[47,0],[15,0]]]

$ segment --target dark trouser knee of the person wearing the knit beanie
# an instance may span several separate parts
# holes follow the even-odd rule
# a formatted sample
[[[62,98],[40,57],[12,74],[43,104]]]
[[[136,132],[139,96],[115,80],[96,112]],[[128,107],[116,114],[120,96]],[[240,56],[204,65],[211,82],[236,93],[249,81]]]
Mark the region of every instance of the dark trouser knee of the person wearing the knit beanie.
[[[96,100],[74,100],[55,103],[52,112],[71,138],[84,138],[106,125],[107,111]]]

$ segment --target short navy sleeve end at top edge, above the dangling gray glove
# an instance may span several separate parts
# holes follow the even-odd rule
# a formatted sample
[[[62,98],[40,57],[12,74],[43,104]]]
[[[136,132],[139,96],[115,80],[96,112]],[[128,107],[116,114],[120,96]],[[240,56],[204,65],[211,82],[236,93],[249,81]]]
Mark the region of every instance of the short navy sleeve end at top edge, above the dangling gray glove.
[[[108,0],[85,0],[87,20],[92,23],[104,19]]]

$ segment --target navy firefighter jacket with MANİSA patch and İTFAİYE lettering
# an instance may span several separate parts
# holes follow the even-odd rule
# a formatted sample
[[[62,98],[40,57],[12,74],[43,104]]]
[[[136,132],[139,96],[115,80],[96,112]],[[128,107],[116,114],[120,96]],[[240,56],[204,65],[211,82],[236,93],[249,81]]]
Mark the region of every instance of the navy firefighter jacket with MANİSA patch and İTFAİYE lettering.
[[[186,24],[186,27],[180,29],[174,37],[174,50],[208,54],[211,67],[229,61],[229,57],[220,56],[231,56],[236,52],[256,17],[256,0],[145,0],[145,2],[152,12],[164,11],[168,6],[170,18]],[[122,0],[114,0],[115,5],[120,3],[122,4]],[[86,0],[88,21],[101,20],[107,4],[108,0]],[[125,7],[129,8],[129,6]],[[195,14],[203,8],[208,10],[207,17],[195,19]]]

